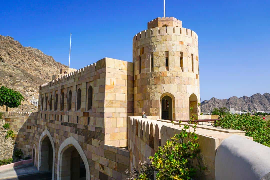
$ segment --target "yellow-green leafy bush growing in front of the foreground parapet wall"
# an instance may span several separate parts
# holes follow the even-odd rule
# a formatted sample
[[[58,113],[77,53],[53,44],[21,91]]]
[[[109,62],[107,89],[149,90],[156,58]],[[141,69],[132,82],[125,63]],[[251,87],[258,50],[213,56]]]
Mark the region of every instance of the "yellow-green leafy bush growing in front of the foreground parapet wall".
[[[200,103],[198,106],[200,106]],[[191,108],[192,110],[193,108]],[[180,134],[175,134],[174,137],[167,140],[164,147],[158,147],[154,157],[149,157],[150,165],[146,162],[139,162],[141,167],[135,168],[129,180],[153,179],[154,171],[157,171],[157,180],[189,180],[195,178],[196,175],[200,175],[201,170],[204,171],[205,168],[200,164],[198,136],[195,134],[196,120],[198,120],[198,113],[193,114],[190,121],[181,129]],[[193,123],[193,126],[189,126],[191,123]]]

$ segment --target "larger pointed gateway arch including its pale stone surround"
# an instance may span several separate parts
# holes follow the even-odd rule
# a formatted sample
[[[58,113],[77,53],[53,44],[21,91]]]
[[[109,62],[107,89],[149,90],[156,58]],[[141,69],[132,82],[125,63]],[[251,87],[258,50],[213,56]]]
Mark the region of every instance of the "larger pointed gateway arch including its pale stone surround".
[[[58,151],[57,179],[90,180],[87,157],[74,137],[67,138]]]

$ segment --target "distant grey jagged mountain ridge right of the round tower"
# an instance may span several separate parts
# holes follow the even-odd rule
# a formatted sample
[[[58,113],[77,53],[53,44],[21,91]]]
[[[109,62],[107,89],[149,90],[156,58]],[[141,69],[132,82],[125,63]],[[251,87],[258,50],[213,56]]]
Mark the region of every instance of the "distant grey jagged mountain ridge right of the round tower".
[[[246,111],[270,111],[270,94],[265,93],[254,94],[251,97],[233,96],[229,99],[216,99],[212,98],[209,101],[205,100],[201,103],[202,113],[211,113],[214,108],[226,107],[228,109],[234,108],[235,110],[246,110]]]

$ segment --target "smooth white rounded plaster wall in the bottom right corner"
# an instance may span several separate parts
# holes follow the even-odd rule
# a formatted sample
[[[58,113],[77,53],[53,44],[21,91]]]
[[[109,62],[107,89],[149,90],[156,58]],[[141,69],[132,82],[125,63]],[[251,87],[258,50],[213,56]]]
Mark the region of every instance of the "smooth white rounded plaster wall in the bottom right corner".
[[[270,148],[240,136],[225,139],[217,149],[215,178],[270,179]]]

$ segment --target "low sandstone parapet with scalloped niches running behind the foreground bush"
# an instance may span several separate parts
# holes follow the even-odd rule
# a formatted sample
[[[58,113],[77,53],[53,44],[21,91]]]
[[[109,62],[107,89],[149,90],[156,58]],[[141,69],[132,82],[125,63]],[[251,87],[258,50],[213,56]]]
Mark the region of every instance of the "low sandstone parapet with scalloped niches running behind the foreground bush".
[[[169,121],[157,121],[141,117],[129,117],[129,150],[130,170],[139,166],[139,161],[147,161],[147,157],[153,156],[159,146],[163,146],[168,139],[179,134],[179,123],[172,124]],[[201,156],[206,167],[201,179],[215,179],[215,154],[220,143],[234,134],[229,134],[211,129],[197,128]],[[251,139],[250,137],[243,136]]]

